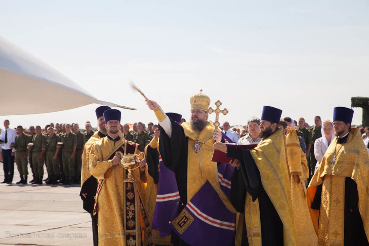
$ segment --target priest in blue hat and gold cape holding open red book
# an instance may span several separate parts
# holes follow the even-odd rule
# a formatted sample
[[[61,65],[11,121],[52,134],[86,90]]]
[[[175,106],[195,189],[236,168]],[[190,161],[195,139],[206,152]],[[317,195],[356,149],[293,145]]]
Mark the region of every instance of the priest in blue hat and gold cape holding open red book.
[[[235,159],[231,201],[244,213],[240,226],[242,246],[297,245],[294,232],[290,178],[287,170],[284,132],[278,128],[282,110],[264,106],[259,137],[254,149],[229,148],[215,142],[214,149]],[[236,245],[238,245],[236,243]]]

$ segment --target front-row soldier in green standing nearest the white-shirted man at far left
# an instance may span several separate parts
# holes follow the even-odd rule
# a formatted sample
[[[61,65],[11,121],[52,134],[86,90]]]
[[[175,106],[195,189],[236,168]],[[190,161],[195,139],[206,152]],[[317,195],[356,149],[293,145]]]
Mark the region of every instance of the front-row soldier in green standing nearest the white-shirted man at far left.
[[[30,142],[30,138],[23,133],[23,127],[19,125],[17,127],[18,136],[15,137],[13,148],[15,149],[15,156],[17,157],[17,169],[21,180],[17,184],[27,184],[27,145]]]

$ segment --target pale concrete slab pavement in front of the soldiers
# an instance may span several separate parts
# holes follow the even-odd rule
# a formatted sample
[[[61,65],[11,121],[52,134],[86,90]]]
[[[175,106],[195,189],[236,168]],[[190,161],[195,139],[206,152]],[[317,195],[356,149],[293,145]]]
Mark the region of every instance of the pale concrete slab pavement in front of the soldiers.
[[[0,246],[93,245],[91,217],[82,208],[79,185],[15,184],[19,179],[14,165],[13,184],[0,184]]]

